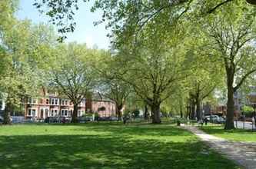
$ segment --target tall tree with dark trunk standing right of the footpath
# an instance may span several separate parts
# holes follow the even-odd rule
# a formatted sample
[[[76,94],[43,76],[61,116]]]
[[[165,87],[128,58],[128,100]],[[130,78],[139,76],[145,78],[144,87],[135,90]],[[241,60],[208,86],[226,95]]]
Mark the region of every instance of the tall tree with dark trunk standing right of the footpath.
[[[205,21],[205,20],[204,20]],[[228,112],[225,129],[234,128],[234,92],[256,71],[255,59],[255,15],[254,8],[243,2],[230,4],[218,18],[209,16],[206,34],[210,38],[211,49],[221,59],[226,73],[228,88]],[[205,22],[204,22],[205,25]]]

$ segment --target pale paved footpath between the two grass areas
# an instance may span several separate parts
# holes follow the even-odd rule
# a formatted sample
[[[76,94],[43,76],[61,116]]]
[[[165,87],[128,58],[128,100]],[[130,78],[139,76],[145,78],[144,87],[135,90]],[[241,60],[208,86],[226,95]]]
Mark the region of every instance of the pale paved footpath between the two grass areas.
[[[196,127],[183,126],[182,128],[191,131],[202,141],[206,142],[215,151],[224,154],[225,157],[236,161],[238,164],[248,169],[256,169],[256,143],[228,141],[224,138],[217,138],[213,135],[206,134]]]

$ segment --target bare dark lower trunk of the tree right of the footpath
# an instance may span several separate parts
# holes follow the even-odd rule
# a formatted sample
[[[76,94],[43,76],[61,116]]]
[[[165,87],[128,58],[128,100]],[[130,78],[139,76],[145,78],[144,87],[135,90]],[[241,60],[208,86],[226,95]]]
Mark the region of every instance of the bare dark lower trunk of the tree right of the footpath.
[[[227,118],[224,129],[234,129],[234,88],[228,86]]]

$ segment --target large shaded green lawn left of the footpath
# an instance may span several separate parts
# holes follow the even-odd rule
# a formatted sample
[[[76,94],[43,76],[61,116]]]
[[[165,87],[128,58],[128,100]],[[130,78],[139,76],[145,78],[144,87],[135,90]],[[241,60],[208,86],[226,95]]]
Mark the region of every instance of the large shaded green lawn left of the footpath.
[[[0,126],[0,168],[238,168],[169,124]]]

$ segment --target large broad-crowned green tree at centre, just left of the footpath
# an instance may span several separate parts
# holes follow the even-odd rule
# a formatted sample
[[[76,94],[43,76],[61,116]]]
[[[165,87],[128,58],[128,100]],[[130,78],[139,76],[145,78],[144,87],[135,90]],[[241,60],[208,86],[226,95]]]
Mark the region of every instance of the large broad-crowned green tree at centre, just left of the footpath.
[[[153,123],[161,123],[161,103],[171,96],[177,81],[185,78],[190,70],[190,62],[179,43],[178,36],[183,35],[181,29],[167,34],[170,29],[165,29],[162,23],[160,18],[155,19],[141,35],[131,41],[127,39],[128,45],[120,48],[115,66],[119,72],[121,70],[117,78],[131,85],[151,107]],[[159,28],[154,28],[155,25]]]

